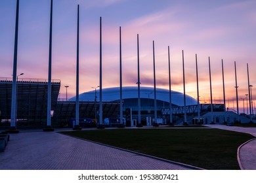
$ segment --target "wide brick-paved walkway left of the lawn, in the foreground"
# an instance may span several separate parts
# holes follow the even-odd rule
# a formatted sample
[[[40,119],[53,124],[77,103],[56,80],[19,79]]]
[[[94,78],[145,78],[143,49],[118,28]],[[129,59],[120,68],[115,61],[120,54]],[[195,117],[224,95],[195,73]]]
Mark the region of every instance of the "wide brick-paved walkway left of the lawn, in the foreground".
[[[0,169],[180,170],[190,167],[75,139],[56,131],[28,130],[11,134],[5,152],[0,153]]]

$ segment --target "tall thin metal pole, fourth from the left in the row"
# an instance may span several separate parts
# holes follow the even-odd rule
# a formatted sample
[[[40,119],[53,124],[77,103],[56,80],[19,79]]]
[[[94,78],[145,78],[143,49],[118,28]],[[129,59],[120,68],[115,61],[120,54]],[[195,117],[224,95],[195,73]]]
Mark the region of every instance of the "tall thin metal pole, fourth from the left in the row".
[[[101,17],[100,17],[100,125],[102,125],[102,33],[101,33]]]

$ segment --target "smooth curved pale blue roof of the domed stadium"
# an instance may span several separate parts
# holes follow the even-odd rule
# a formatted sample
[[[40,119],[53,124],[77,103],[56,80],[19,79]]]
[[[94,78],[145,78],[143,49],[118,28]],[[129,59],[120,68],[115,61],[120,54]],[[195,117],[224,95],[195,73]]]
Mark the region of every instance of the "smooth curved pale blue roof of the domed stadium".
[[[150,99],[154,99],[154,88],[140,87],[140,98],[148,99],[148,93],[150,93]],[[97,101],[99,101],[99,90],[96,91]],[[178,106],[184,106],[183,93],[171,91],[172,103]],[[137,86],[124,86],[123,87],[123,99],[136,99],[138,98]],[[102,89],[102,101],[117,101],[120,99],[119,87],[104,88]],[[156,99],[169,103],[169,90],[156,88]],[[70,98],[70,101],[75,101],[75,97]],[[79,95],[79,101],[95,101],[95,90],[81,93]],[[186,95],[186,105],[196,105],[197,101],[193,97]]]

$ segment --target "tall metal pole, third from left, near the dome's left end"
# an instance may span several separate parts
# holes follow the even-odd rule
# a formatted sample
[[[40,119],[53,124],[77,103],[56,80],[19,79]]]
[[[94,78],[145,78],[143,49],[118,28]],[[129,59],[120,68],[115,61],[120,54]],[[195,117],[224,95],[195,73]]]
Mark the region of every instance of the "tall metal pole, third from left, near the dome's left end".
[[[77,5],[75,125],[79,125],[79,5]]]

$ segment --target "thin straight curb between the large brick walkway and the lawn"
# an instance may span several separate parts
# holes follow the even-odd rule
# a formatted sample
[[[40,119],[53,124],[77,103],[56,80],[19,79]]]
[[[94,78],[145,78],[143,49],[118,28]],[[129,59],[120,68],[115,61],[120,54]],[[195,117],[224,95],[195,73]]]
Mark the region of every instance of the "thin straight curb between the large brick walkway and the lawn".
[[[66,135],[66,134],[63,134],[63,133],[61,133],[61,132],[58,132],[58,133],[60,133],[60,134],[62,134],[62,135]],[[66,136],[68,136],[68,137],[73,137],[73,138],[75,138],[75,139],[80,139],[80,140],[82,140],[82,141],[93,142],[93,143],[95,143],[95,144],[99,144],[99,145],[102,145],[102,146],[107,146],[107,147],[110,147],[110,148],[115,148],[115,149],[117,149],[117,150],[123,150],[123,151],[125,151],[125,152],[130,152],[130,153],[133,153],[133,154],[138,154],[138,155],[140,155],[140,156],[145,156],[145,157],[148,157],[148,158],[158,159],[158,160],[160,160],[160,161],[164,161],[164,162],[167,162],[167,163],[173,163],[173,164],[175,164],[175,165],[181,165],[181,166],[183,166],[183,167],[188,167],[189,169],[192,169],[192,170],[204,170],[204,169],[202,169],[202,168],[195,167],[195,166],[192,166],[192,165],[186,165],[186,164],[184,164],[184,163],[179,163],[179,162],[171,161],[171,160],[168,160],[168,159],[158,158],[158,157],[156,157],[156,156],[151,156],[151,155],[148,155],[148,154],[143,154],[143,153],[140,153],[140,152],[135,152],[135,151],[132,151],[132,150],[127,150],[127,149],[119,148],[119,147],[116,147],[116,146],[110,146],[110,145],[108,145],[108,144],[102,144],[102,143],[100,143],[100,142],[90,141],[90,140],[87,140],[87,139],[82,139],[82,138],[79,138],[79,137],[74,137],[74,136],[72,136],[72,135],[66,135]],[[256,139],[256,138],[255,138],[255,139]]]

